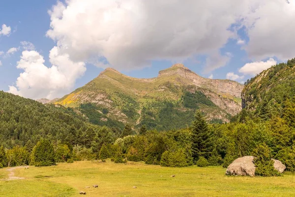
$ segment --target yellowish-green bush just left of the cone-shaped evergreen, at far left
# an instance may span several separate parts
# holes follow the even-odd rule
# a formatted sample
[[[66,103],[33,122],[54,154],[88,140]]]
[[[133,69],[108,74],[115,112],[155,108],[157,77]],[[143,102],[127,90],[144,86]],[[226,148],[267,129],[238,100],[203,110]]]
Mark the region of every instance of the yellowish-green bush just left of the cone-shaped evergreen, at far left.
[[[29,152],[25,147],[15,146],[6,153],[8,165],[27,165],[29,164]]]

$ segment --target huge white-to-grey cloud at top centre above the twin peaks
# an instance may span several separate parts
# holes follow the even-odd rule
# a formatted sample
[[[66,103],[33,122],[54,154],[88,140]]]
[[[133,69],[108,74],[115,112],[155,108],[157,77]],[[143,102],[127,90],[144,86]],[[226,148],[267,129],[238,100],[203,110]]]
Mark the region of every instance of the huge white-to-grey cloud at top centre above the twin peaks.
[[[230,27],[247,4],[245,0],[67,0],[49,11],[47,36],[72,60],[101,67],[134,69],[149,66],[152,60],[201,54],[210,56],[207,70],[213,70],[228,61],[227,56],[216,57],[216,51],[236,36]]]

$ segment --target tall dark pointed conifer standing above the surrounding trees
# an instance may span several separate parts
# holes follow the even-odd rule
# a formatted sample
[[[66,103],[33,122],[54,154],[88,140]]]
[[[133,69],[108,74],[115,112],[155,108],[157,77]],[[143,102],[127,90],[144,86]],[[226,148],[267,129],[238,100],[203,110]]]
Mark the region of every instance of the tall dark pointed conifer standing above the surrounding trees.
[[[198,161],[201,156],[206,159],[210,156],[212,144],[211,133],[199,110],[196,112],[195,118],[196,120],[192,124],[192,152],[194,160]]]

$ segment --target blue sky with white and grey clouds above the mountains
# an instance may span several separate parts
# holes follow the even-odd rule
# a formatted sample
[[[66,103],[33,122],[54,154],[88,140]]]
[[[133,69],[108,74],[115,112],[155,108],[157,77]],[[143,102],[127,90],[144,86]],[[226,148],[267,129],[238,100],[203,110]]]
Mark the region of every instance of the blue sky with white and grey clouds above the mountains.
[[[284,51],[276,51],[276,46],[278,46],[279,43],[274,43],[273,39],[277,39],[278,41],[282,40],[282,43],[285,43],[285,45],[279,46],[278,48],[285,47],[288,49],[288,43],[283,40],[286,39],[286,36],[278,35],[278,37],[275,37],[272,35],[274,37],[270,37],[270,35],[267,34],[267,31],[272,31],[273,34],[278,31],[274,26],[276,24],[278,26],[280,25],[281,22],[279,19],[277,23],[276,21],[273,21],[273,24],[269,26],[267,26],[268,24],[264,21],[263,17],[257,19],[257,16],[267,16],[268,10],[270,16],[273,7],[269,7],[269,5],[266,4],[267,1],[257,1],[261,3],[260,7],[262,8],[257,9],[255,13],[252,13],[253,16],[251,15],[251,17],[256,17],[256,19],[246,22],[240,19],[231,19],[237,15],[236,12],[239,12],[239,14],[242,15],[243,11],[245,11],[243,17],[248,20],[251,19],[250,15],[247,15],[248,11],[244,10],[245,8],[240,7],[243,3],[248,3],[246,0],[243,0],[243,3],[234,3],[233,1],[233,6],[236,6],[237,11],[235,13],[229,13],[228,15],[224,14],[224,11],[229,11],[232,9],[231,7],[222,5],[218,10],[215,10],[217,8],[211,8],[209,4],[207,5],[206,3],[203,3],[203,1],[188,1],[188,7],[181,4],[181,1],[179,1],[180,4],[178,5],[178,0],[175,1],[175,4],[171,5],[172,8],[173,6],[175,6],[175,8],[183,6],[184,12],[180,12],[181,9],[179,9],[179,16],[183,16],[177,17],[177,20],[178,18],[181,20],[179,19],[179,21],[175,21],[175,19],[173,19],[173,9],[163,9],[163,12],[166,12],[164,13],[165,15],[163,15],[160,11],[157,12],[157,9],[162,9],[162,5],[150,5],[147,3],[145,7],[140,7],[137,5],[137,1],[134,0],[110,1],[109,4],[102,2],[102,0],[101,3],[99,3],[99,0],[69,0],[68,4],[65,2],[57,3],[56,0],[3,0],[0,5],[0,27],[5,24],[11,28],[11,31],[8,35],[1,35],[0,33],[0,51],[4,52],[0,56],[0,90],[9,91],[9,86],[14,86],[14,91],[10,90],[10,92],[14,94],[33,99],[37,99],[38,97],[51,99],[56,96],[60,97],[63,94],[68,94],[72,90],[85,85],[107,66],[115,67],[122,73],[132,77],[150,78],[156,77],[159,70],[168,68],[178,62],[183,63],[186,67],[203,77],[209,77],[211,75],[211,77],[213,76],[213,79],[229,78],[242,83],[254,76],[257,72],[262,71],[263,68],[271,66],[270,64],[284,62],[288,58],[292,58],[292,52],[294,52],[295,56],[294,49],[292,49],[293,51],[291,52],[288,50],[286,53],[284,53]],[[282,15],[280,11],[284,9],[286,10],[286,7],[288,9],[290,8],[291,12],[295,4],[294,1],[291,1],[288,5],[286,5],[286,2],[283,4],[278,0],[271,1],[275,4],[273,6],[281,6],[280,9],[272,11],[274,13],[272,13],[273,15],[276,15],[276,12],[278,12],[278,16]],[[116,3],[118,3],[118,5],[116,5],[118,8],[125,8],[123,11],[124,13],[122,11],[114,11],[115,8],[112,8],[111,6]],[[53,6],[55,6],[55,8],[53,8]],[[80,8],[83,6],[85,6],[85,10],[87,11],[82,11],[84,13],[84,18],[79,21],[77,16],[80,17]],[[190,17],[195,14],[194,9],[191,10],[190,8],[192,6],[204,6],[208,9],[208,12],[211,11],[212,14],[216,13],[216,16],[214,16],[215,18],[213,19],[209,18],[206,20],[203,20],[205,14],[202,15],[202,13]],[[257,5],[255,4],[255,6]],[[154,10],[155,13],[153,14],[149,8]],[[106,11],[106,9],[109,10]],[[143,10],[140,10],[140,12],[134,11],[139,9]],[[48,10],[52,10],[52,12],[48,13]],[[133,18],[130,19],[128,11],[133,14]],[[100,16],[101,12],[103,12],[103,15]],[[142,12],[146,12],[147,15],[153,15],[149,16],[148,19],[142,19],[143,17],[140,15]],[[187,16],[183,14],[186,12],[188,12]],[[191,15],[189,15],[189,13]],[[69,18],[69,16],[73,15],[75,15],[76,18]],[[152,16],[155,16],[154,19],[150,19]],[[100,23],[101,17],[103,17],[102,21],[104,23]],[[138,20],[136,20],[137,17]],[[286,20],[288,13],[286,16],[282,17],[285,17]],[[170,21],[170,18],[174,21]],[[54,23],[55,20],[58,20],[59,23]],[[51,23],[52,26],[50,26]],[[86,23],[91,24],[86,26]],[[126,36],[124,26],[121,25],[122,23],[124,23],[126,29],[130,28],[128,31],[132,33],[133,37],[130,38],[129,35]],[[158,23],[161,25],[157,26]],[[254,25],[250,26],[249,24],[251,23]],[[138,29],[150,27],[146,24],[154,24],[154,26],[152,26],[154,30],[150,33],[148,32],[147,35],[142,35],[143,32],[136,30],[134,27],[136,26],[135,24],[138,24]],[[68,28],[66,25],[68,25]],[[196,25],[196,27],[194,27],[194,25]],[[66,26],[66,30],[62,29],[63,26]],[[209,28],[202,29],[203,26],[209,26]],[[91,29],[85,31],[77,30],[80,27],[90,27]],[[263,31],[261,28],[263,28]],[[50,29],[52,30],[52,33],[47,34],[47,31]],[[102,31],[100,31],[100,29]],[[178,31],[178,29],[180,32],[170,35],[172,32],[171,30]],[[77,32],[75,32],[76,30]],[[123,42],[122,44],[118,44],[118,46],[116,44],[114,45],[113,42],[105,42],[105,40],[109,41],[112,38],[112,35],[116,34],[114,31],[120,36],[126,36],[123,40],[118,38],[120,36],[116,37],[115,43],[120,41]],[[291,27],[290,31],[295,32],[295,28]],[[180,33],[186,34],[182,36]],[[157,35],[159,35],[159,38],[157,38]],[[97,44],[94,45],[91,43],[91,40],[89,41],[87,39],[87,37],[91,36],[94,41],[97,41]],[[103,44],[101,40],[99,40],[101,36],[108,36],[108,39],[103,39]],[[171,40],[168,40],[168,38],[165,40],[166,37],[169,36],[172,36],[173,38],[171,38]],[[288,39],[290,40],[291,45],[294,41],[293,36]],[[261,43],[257,43],[257,40],[261,40]],[[56,62],[56,60],[50,60],[49,58],[50,51],[54,47],[57,47],[57,57],[68,57],[68,61],[70,62],[65,62],[64,64],[73,64],[73,67],[68,68],[69,70],[73,70],[75,63],[81,63],[81,69],[79,69],[77,73],[73,73],[73,75],[61,73],[60,75],[63,78],[68,76],[72,77],[69,80],[65,80],[72,84],[68,87],[51,85],[50,87],[42,86],[42,88],[40,88],[37,86],[38,82],[31,81],[28,82],[29,85],[26,85],[27,83],[24,81],[28,80],[28,78],[17,80],[21,73],[26,72],[31,72],[29,73],[30,78],[37,77],[36,72],[28,71],[29,69],[25,71],[24,67],[23,69],[18,69],[16,67],[17,62],[21,60],[22,52],[26,51],[21,45],[22,41],[27,41],[34,45],[33,50],[37,52],[37,56],[43,56],[45,61],[44,66],[47,66],[48,68],[51,68],[53,62]],[[128,47],[126,47],[126,43],[124,44],[124,42],[128,43]],[[70,45],[74,45],[73,43],[79,43],[79,46],[81,45],[81,47],[71,47]],[[174,46],[175,43],[177,43],[177,46]],[[265,45],[266,47],[263,47],[262,45]],[[17,51],[13,54],[7,54],[7,51],[13,47],[17,48]],[[64,54],[66,55],[64,56]],[[101,64],[98,61],[102,57],[106,60],[104,64]],[[23,58],[24,62],[30,64],[29,55],[27,58],[28,59]],[[267,62],[267,60],[270,61]],[[62,63],[62,61],[59,61],[54,64],[57,64],[58,70],[66,72],[64,71],[66,66],[59,65]],[[252,64],[246,65],[247,63]],[[244,69],[241,70],[243,66]],[[85,67],[86,71],[84,70]],[[45,73],[44,76],[45,75],[49,76],[50,74]],[[49,78],[50,80],[54,80],[52,77]],[[44,80],[44,82],[41,80],[40,83],[51,83],[52,81],[50,80]],[[24,87],[20,85],[22,82],[25,84],[23,85]],[[55,88],[57,90],[55,90]],[[33,94],[30,94],[34,96],[30,97],[29,93],[26,94],[30,91],[33,91]],[[50,94],[46,91],[50,92]]]

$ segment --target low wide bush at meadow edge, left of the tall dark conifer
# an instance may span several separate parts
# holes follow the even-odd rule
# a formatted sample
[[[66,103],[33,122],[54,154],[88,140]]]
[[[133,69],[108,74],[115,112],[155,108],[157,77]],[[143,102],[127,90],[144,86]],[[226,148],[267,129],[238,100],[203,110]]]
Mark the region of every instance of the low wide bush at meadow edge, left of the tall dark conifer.
[[[162,154],[160,164],[167,167],[185,167],[189,165],[189,161],[183,149],[178,149],[175,152],[165,151]]]

